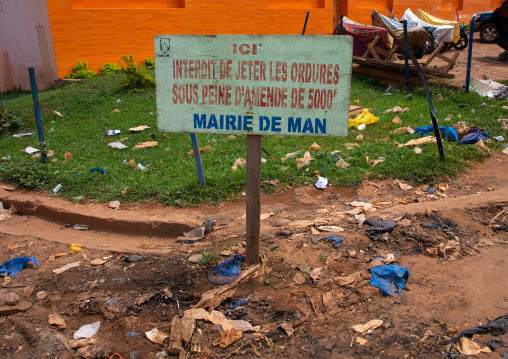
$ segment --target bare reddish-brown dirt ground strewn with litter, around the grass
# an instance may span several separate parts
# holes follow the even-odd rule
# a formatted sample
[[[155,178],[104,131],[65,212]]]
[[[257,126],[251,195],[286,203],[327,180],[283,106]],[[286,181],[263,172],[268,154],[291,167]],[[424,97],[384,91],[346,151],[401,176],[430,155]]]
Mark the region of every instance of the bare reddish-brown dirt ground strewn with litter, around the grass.
[[[478,53],[473,60],[480,66],[474,76],[506,79],[507,64],[489,65],[500,48],[476,41],[474,45]],[[369,179],[357,189],[309,186],[262,196],[263,263],[255,277],[229,291],[217,307],[206,306],[228,319],[259,326],[258,331],[244,332],[222,348],[214,345],[224,335],[221,327],[197,320],[202,338],[194,334],[192,345],[184,343],[180,357],[446,357],[454,334],[508,314],[508,211],[501,213],[508,208],[505,165],[508,156],[495,154],[471,164],[470,171],[455,181],[430,188]],[[13,198],[26,203],[49,199],[44,194],[0,189],[6,207]],[[145,333],[157,328],[169,334],[175,316],[198,305],[208,290],[220,288],[207,280],[210,265],[188,258],[207,251],[221,253],[222,261],[245,253],[245,200],[218,207],[122,207],[119,211],[104,204],[58,203],[68,211],[60,217],[58,211],[45,207],[44,218],[21,214],[0,221],[0,262],[35,256],[39,264],[29,263],[1,282],[0,300],[14,292],[26,306],[17,313],[0,306],[0,357],[165,358],[174,341],[157,344]],[[96,218],[89,220],[89,231],[68,226],[84,218],[72,215],[78,212]],[[133,225],[136,216],[153,218],[153,231]],[[369,226],[361,223],[364,217],[395,220],[396,225],[371,239]],[[155,227],[165,221],[171,225],[164,235]],[[177,243],[184,229],[206,221],[214,227],[203,242]],[[105,230],[107,223],[110,231]],[[330,228],[322,226],[342,230],[335,227],[328,232],[324,229]],[[344,240],[334,248],[325,241],[329,236]],[[73,243],[83,251],[71,254]],[[133,261],[132,255],[142,258]],[[93,262],[98,259],[103,260]],[[402,296],[384,296],[370,284],[370,269],[390,261],[409,271]],[[74,262],[79,266],[53,273]],[[247,270],[244,265],[242,272]],[[239,299],[245,300],[243,305],[231,309]],[[65,327],[49,323],[55,314]],[[382,324],[363,334],[351,329],[371,320]],[[74,333],[97,321],[100,328],[92,341],[71,348]],[[500,347],[477,357],[508,357],[508,334],[487,333],[472,339],[480,348],[487,343]],[[200,353],[190,353],[195,344]],[[458,357],[455,350],[451,352]]]

